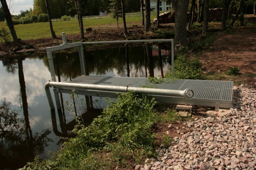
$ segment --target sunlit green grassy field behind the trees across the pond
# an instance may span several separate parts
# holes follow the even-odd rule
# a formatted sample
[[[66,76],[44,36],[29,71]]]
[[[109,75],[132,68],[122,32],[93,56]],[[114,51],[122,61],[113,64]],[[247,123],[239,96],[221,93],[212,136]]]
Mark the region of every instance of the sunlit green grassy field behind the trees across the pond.
[[[156,18],[155,15],[151,16],[151,20]],[[141,22],[141,16],[132,16],[126,17],[127,26],[133,25],[134,22]],[[113,18],[97,18],[97,19],[84,19],[84,30],[85,28],[91,27],[92,29],[104,29],[109,28],[111,26],[117,27],[116,19]],[[122,18],[118,20],[119,26],[122,27]],[[61,36],[62,32],[66,32],[66,34],[77,34],[80,32],[78,20],[69,20],[69,21],[55,21],[52,22],[53,29],[55,31],[56,36]],[[4,22],[0,22],[0,27],[8,27],[4,24]],[[30,39],[38,39],[38,38],[47,38],[51,37],[49,22],[39,22],[33,24],[19,24],[14,26],[16,29],[16,33],[18,38],[22,40],[30,40]]]

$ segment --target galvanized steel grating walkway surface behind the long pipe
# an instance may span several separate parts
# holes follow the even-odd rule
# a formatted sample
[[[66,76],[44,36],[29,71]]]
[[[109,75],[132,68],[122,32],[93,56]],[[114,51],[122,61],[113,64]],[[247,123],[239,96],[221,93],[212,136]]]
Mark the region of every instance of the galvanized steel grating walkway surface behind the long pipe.
[[[107,76],[85,76],[82,75],[67,81],[68,83],[83,83],[96,85],[115,85],[127,86],[128,83],[132,87],[148,87],[156,89],[173,89],[184,90],[192,89],[194,97],[190,100],[178,99],[179,104],[194,104],[214,106],[215,103],[220,103],[220,107],[231,107],[233,81],[213,81],[213,80],[184,80],[184,79],[163,79],[162,83],[151,83],[148,78],[138,77],[107,77]],[[172,100],[175,101],[175,97]],[[181,101],[182,100],[182,101]],[[211,104],[209,104],[211,103]]]

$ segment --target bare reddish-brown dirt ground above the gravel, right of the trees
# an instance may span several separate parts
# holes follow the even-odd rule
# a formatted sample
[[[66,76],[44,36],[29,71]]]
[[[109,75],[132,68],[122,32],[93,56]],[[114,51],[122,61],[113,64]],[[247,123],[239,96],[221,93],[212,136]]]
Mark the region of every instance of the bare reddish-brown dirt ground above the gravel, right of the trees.
[[[239,84],[256,82],[256,26],[243,26],[219,32],[211,49],[200,61],[206,74]],[[228,76],[230,67],[238,67],[240,75]]]

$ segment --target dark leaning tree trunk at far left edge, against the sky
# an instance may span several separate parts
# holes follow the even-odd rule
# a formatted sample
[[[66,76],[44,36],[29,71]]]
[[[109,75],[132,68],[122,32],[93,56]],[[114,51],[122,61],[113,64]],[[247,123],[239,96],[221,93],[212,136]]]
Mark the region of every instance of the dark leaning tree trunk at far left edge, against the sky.
[[[6,19],[8,28],[9,28],[11,34],[12,34],[12,39],[13,39],[14,42],[16,42],[16,41],[18,41],[18,37],[17,37],[16,31],[15,31],[15,28],[14,28],[14,25],[13,25],[13,22],[12,22],[12,15],[10,13],[10,10],[8,8],[6,0],[0,0],[0,2],[2,4],[2,9],[4,11],[4,17]]]

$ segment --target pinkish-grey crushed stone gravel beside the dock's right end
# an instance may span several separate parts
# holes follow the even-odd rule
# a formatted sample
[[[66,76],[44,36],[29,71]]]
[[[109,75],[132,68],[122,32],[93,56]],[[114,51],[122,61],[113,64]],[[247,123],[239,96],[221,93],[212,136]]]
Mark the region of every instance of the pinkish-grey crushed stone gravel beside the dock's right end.
[[[175,137],[136,170],[256,169],[256,83],[241,85],[233,107],[222,117],[199,117],[184,124],[192,132]]]

